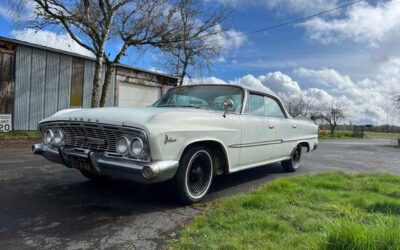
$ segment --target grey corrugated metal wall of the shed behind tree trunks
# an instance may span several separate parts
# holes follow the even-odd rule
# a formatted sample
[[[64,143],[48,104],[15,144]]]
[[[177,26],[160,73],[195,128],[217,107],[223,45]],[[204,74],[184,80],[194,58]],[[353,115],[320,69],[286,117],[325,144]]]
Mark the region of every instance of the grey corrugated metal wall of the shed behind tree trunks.
[[[15,63],[14,130],[35,130],[41,119],[70,108],[72,56],[17,45]],[[85,59],[84,66],[82,106],[89,108],[95,64]],[[114,91],[115,72],[107,106],[114,106]]]

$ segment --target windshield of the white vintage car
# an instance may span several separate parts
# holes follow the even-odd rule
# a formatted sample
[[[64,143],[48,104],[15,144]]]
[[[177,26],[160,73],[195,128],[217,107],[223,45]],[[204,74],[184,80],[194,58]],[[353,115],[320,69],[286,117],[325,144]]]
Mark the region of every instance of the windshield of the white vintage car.
[[[152,106],[224,110],[224,101],[227,99],[233,101],[233,107],[228,111],[240,113],[243,90],[228,85],[192,85],[170,89]]]

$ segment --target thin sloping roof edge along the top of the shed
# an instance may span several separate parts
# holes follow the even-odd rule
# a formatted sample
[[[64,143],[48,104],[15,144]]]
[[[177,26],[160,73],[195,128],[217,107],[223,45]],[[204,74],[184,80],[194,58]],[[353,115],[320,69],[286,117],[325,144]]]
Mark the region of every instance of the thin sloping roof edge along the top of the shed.
[[[17,40],[17,39],[11,39],[11,38],[7,38],[7,37],[3,37],[3,36],[0,36],[0,41],[9,42],[9,43],[15,43],[15,44],[28,46],[28,47],[32,47],[32,48],[37,48],[37,49],[42,49],[42,50],[47,50],[47,51],[60,53],[60,54],[64,54],[64,55],[75,56],[75,57],[84,58],[84,59],[92,60],[92,61],[96,60],[94,57],[84,56],[84,55],[81,55],[81,54],[78,54],[78,53],[74,53],[74,52],[55,49],[55,48],[51,48],[51,47],[47,47],[47,46],[43,46],[43,45],[39,45],[39,44],[35,44],[35,43],[29,43],[29,42],[25,42],[25,41],[21,41],[21,40]],[[155,74],[155,75],[165,76],[165,77],[169,77],[169,78],[179,79],[179,77],[177,77],[177,76],[173,76],[173,75],[169,75],[169,74],[165,74],[165,73],[160,73],[160,72],[156,72],[156,71],[151,71],[151,70],[146,70],[146,69],[141,69],[141,68],[133,67],[133,66],[130,66],[130,65],[117,63],[116,66],[122,67],[122,68],[134,69],[134,70],[147,72],[147,73],[151,73],[151,74]]]

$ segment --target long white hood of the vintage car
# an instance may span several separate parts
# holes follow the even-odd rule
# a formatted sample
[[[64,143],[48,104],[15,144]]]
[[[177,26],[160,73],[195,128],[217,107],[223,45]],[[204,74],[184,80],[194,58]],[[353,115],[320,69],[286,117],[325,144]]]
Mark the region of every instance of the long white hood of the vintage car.
[[[50,121],[84,121],[117,126],[131,126],[149,131],[152,130],[149,129],[150,127],[158,127],[158,130],[164,130],[167,127],[171,129],[179,126],[182,129],[182,124],[187,124],[188,122],[192,124],[209,123],[210,119],[221,119],[222,117],[223,111],[195,108],[112,107],[61,110],[49,118],[42,120],[40,123]]]

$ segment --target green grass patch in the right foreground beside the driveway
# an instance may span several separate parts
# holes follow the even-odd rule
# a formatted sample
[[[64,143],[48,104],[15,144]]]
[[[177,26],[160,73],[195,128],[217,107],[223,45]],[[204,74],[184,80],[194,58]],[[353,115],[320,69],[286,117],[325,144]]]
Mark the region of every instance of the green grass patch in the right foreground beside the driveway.
[[[320,173],[215,201],[172,249],[400,249],[400,177]]]

